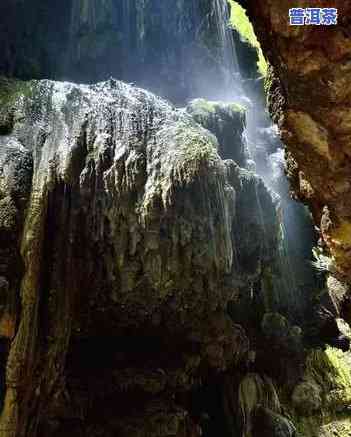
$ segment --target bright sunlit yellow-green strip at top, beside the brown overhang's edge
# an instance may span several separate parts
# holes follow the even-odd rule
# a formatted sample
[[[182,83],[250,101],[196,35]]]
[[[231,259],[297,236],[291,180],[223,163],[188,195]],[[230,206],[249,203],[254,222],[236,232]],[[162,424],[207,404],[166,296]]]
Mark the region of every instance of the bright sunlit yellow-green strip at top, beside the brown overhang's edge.
[[[258,70],[262,76],[267,75],[268,64],[263,56],[263,52],[260,43],[257,40],[254,29],[248,16],[246,15],[245,9],[242,8],[237,2],[229,0],[231,7],[231,24],[239,32],[242,38],[244,38],[249,44],[257,49],[258,52]]]

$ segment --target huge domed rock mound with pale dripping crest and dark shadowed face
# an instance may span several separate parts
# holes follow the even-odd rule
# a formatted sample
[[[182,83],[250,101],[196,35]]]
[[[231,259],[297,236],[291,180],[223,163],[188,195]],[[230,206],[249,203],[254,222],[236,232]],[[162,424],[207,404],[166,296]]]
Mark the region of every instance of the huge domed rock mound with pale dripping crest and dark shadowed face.
[[[278,251],[268,191],[147,91],[19,89],[0,137],[1,248],[13,254],[1,267],[4,435],[198,435],[176,399],[246,366],[248,339],[225,309]]]

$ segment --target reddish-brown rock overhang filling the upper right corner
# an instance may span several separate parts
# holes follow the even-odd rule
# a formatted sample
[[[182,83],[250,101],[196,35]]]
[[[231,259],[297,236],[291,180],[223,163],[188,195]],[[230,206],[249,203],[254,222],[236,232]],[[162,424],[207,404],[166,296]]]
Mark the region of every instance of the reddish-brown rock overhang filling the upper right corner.
[[[333,267],[349,280],[351,6],[328,4],[339,10],[337,27],[291,27],[288,1],[241,3],[274,68],[269,105],[287,145],[293,191],[311,206]]]

